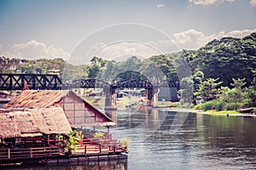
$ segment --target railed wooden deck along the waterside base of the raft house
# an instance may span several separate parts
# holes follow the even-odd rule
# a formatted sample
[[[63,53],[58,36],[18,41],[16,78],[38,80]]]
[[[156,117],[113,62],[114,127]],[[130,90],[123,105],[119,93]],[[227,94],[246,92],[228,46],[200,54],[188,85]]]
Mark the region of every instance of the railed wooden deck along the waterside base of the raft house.
[[[113,159],[127,159],[127,152],[115,140],[103,140],[95,143],[92,139],[79,141],[76,150],[67,156],[63,148],[59,146],[23,148],[23,149],[0,149],[0,166],[15,163],[61,163],[77,161],[101,161]]]

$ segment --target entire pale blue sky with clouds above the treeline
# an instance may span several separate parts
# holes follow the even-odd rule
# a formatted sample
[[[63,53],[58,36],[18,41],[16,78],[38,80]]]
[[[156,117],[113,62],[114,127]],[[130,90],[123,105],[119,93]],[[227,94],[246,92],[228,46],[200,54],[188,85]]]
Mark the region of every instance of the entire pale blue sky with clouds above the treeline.
[[[0,0],[0,55],[148,58],[256,31],[256,0]]]

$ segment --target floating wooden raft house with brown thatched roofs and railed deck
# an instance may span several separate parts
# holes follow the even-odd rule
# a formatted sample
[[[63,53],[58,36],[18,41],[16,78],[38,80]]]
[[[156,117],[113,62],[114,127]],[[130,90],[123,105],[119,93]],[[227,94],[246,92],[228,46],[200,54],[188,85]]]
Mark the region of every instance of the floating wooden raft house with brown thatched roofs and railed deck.
[[[127,159],[109,133],[112,119],[72,90],[22,91],[0,109],[0,121],[0,166]],[[96,139],[96,131],[84,128],[97,126],[108,133]]]

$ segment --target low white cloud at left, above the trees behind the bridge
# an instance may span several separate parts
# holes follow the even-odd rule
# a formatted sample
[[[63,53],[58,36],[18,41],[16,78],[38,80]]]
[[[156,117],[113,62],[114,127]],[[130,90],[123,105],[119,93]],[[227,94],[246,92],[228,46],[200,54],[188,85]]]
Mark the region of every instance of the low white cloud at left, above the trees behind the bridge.
[[[43,42],[31,40],[26,43],[15,44],[12,47],[11,52],[6,51],[4,52],[4,55],[7,57],[17,57],[25,59],[67,59],[69,54],[61,48],[55,48],[54,45],[48,45]]]

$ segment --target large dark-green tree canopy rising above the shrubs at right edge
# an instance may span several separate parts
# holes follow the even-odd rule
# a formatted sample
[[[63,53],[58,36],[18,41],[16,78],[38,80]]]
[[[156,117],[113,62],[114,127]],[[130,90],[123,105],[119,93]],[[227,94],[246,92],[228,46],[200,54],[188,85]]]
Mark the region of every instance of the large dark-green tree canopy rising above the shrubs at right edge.
[[[247,87],[253,82],[256,68],[256,33],[247,37],[224,37],[189,54],[192,71],[203,71],[206,78],[219,78],[230,86],[232,78],[246,77]]]

